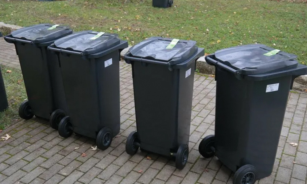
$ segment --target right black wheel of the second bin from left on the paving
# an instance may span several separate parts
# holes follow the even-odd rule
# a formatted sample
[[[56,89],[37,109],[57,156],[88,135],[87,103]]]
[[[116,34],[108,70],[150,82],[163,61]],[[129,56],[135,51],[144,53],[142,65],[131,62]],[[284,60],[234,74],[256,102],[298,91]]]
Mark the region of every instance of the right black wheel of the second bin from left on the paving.
[[[112,130],[104,127],[97,134],[96,145],[101,150],[106,150],[111,145],[113,138]]]

